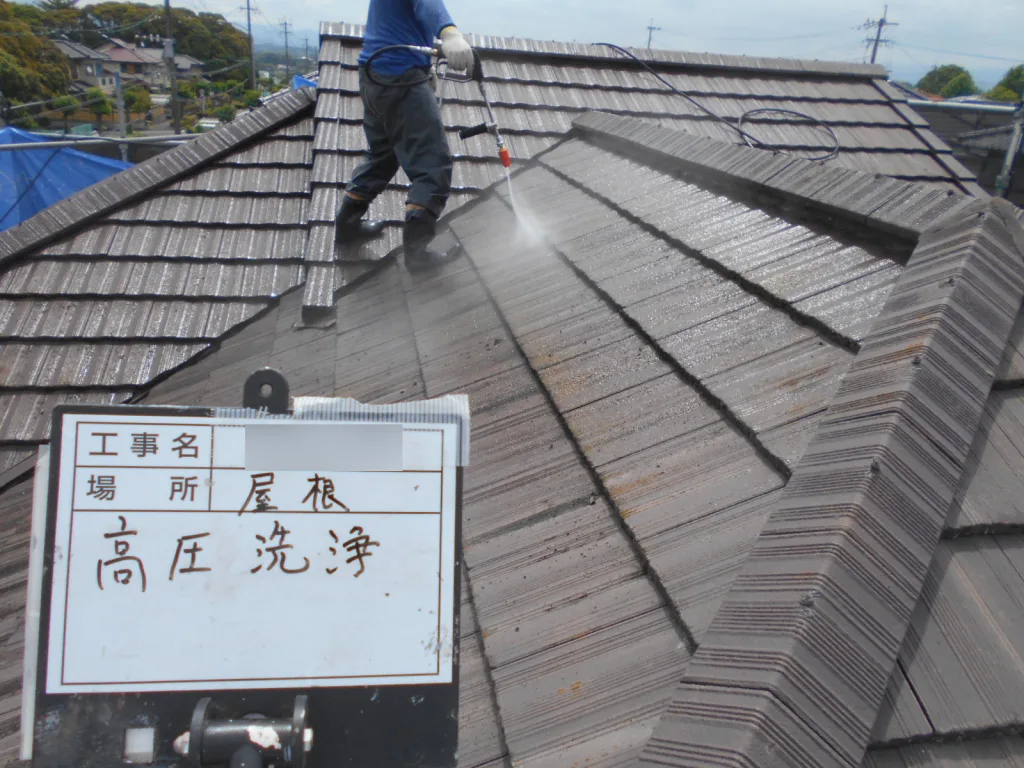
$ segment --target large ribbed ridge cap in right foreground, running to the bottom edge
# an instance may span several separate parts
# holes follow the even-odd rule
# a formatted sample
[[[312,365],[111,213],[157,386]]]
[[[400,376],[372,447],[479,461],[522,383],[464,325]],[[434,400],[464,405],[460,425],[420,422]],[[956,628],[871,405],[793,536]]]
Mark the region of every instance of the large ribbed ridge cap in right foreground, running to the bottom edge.
[[[861,764],[1022,299],[1009,203],[925,232],[641,765]]]

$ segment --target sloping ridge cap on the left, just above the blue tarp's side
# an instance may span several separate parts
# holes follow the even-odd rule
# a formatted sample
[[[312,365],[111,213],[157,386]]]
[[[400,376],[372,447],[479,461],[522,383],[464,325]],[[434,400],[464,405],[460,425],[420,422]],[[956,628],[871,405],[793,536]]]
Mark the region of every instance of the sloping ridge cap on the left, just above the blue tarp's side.
[[[233,152],[240,144],[279,127],[312,105],[311,88],[292,91],[215,131],[157,155],[61,200],[0,232],[0,268],[29,251],[69,234],[93,219],[134,202],[196,169]]]

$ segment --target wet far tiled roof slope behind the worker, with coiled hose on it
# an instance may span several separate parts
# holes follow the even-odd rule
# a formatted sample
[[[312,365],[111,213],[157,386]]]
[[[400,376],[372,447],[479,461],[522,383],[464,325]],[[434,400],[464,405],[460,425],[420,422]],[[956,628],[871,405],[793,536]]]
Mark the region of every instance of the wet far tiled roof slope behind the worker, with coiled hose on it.
[[[321,28],[312,177],[317,211],[336,206],[337,195],[365,152],[356,62],[361,35],[362,28],[354,25]],[[609,48],[481,36],[471,37],[471,42],[480,51],[496,119],[516,164],[551,147],[573,120],[592,110],[643,118],[693,136],[737,140],[732,129],[667,91],[649,73]],[[733,124],[749,111],[768,108],[822,121],[841,142],[835,165],[925,181],[941,189],[980,191],[975,176],[927,122],[906,108],[905,95],[892,88],[877,67],[675,51],[637,54],[675,87]],[[450,211],[504,176],[490,136],[462,141],[456,135],[480,122],[481,108],[475,85],[445,86],[443,116],[458,193]],[[773,115],[752,118],[749,125],[754,135],[797,156],[816,156],[833,147],[828,134],[806,120]],[[371,215],[397,229],[408,184],[399,173]],[[305,296],[310,310],[329,310],[334,291],[341,288],[330,267],[335,257],[374,260],[397,243],[396,233],[391,233],[382,244],[362,246],[357,253],[335,253],[331,223],[316,214],[310,225]]]

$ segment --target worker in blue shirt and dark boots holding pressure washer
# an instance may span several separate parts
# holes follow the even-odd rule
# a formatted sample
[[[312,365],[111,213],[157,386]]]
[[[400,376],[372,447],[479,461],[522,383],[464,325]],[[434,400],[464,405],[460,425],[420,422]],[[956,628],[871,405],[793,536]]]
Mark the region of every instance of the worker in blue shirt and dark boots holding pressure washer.
[[[452,189],[452,152],[435,96],[430,56],[389,50],[390,45],[433,47],[440,38],[449,68],[472,74],[473,49],[455,26],[442,0],[371,0],[359,54],[359,92],[367,159],[352,175],[338,214],[337,240],[348,243],[378,234],[383,222],[367,221],[370,204],[401,167],[412,181],[402,232],[411,270],[439,265],[445,256],[427,248]],[[372,82],[376,80],[380,85]]]

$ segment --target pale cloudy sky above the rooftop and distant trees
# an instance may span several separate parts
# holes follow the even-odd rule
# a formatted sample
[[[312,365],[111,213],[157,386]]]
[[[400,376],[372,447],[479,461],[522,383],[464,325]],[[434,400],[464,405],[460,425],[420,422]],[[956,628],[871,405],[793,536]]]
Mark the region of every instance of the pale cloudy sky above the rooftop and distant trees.
[[[245,24],[243,0],[171,0],[194,10],[222,13]],[[316,44],[321,20],[366,19],[367,0],[253,0],[254,36],[260,43],[284,40],[280,27],[294,25],[291,44],[301,51],[308,36]],[[240,8],[241,5],[241,8]],[[869,0],[446,0],[467,32],[540,40],[613,42],[698,52],[861,61],[864,38],[857,28],[878,19],[884,3]],[[916,82],[936,65],[958,63],[982,87],[991,87],[1015,63],[1024,62],[1022,0],[894,0],[886,29],[892,45],[879,62],[896,80]],[[312,54],[311,54],[312,55]]]

